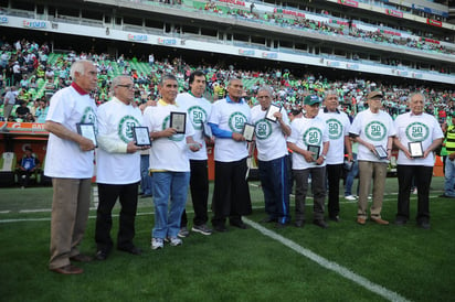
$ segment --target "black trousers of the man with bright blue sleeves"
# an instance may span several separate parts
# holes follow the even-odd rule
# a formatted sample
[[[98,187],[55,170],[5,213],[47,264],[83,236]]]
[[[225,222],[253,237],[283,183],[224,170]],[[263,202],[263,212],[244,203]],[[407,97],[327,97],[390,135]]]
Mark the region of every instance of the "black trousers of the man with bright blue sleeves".
[[[226,217],[239,223],[242,215],[252,212],[246,175],[246,158],[234,162],[215,161],[215,185],[213,188],[213,226],[222,226]]]

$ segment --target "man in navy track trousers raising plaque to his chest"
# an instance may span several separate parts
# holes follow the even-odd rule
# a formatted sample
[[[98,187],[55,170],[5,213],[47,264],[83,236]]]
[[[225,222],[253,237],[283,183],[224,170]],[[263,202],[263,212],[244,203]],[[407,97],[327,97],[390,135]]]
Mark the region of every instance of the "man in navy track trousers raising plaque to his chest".
[[[272,104],[273,90],[260,87],[260,105],[251,110],[255,125],[261,186],[264,193],[265,217],[263,223],[276,223],[281,228],[289,223],[289,180],[286,137],[290,136],[286,109]]]

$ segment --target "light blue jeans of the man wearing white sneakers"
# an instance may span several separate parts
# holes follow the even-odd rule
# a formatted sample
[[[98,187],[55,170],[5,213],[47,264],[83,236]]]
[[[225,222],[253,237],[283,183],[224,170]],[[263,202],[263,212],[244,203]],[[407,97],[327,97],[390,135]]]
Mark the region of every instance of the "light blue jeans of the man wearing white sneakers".
[[[154,172],[155,227],[151,237],[165,239],[177,236],[189,183],[190,172]]]

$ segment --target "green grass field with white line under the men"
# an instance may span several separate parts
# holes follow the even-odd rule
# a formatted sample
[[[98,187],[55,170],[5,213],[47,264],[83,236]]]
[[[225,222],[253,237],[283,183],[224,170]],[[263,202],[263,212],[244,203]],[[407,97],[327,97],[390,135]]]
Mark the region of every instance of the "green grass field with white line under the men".
[[[442,187],[434,177],[430,230],[413,218],[404,227],[359,226],[357,204],[341,198],[342,220],[328,229],[250,223],[246,230],[191,234],[183,246],[157,251],[150,249],[151,198],[139,199],[135,242],[144,254],[115,250],[106,261],[81,265],[81,276],[47,270],[52,188],[1,188],[0,301],[455,301],[455,199],[438,198]],[[389,179],[382,216],[391,222],[396,192],[396,179]],[[251,195],[246,223],[265,216],[257,183]],[[94,215],[81,247],[92,255]],[[116,216],[113,238],[117,223]]]

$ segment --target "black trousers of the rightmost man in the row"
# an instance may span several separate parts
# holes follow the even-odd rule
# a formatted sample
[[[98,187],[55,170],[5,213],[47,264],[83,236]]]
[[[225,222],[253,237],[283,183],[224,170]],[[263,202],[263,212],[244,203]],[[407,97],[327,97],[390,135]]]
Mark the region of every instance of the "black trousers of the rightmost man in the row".
[[[402,165],[396,166],[399,179],[399,197],[396,219],[406,222],[410,218],[410,194],[412,180],[417,187],[417,223],[430,222],[430,184],[433,176],[433,166]]]

